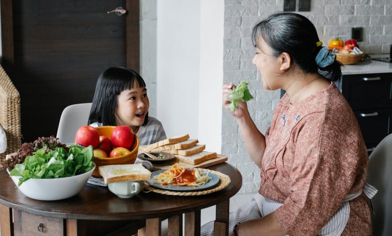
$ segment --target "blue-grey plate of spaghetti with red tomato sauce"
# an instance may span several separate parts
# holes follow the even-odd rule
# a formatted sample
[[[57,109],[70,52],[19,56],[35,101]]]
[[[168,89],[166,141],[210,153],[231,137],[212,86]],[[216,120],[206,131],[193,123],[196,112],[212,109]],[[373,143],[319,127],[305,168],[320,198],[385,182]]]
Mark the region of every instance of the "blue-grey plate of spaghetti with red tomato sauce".
[[[169,191],[199,191],[218,184],[219,177],[204,169],[189,169],[175,163],[170,169],[152,172],[147,183]]]

